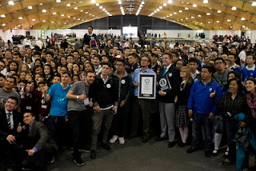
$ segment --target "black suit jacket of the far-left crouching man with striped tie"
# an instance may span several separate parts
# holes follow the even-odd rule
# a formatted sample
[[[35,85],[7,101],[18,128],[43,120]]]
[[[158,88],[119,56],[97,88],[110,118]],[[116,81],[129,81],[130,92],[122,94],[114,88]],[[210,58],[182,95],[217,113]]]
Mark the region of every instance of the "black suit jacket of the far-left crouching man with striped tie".
[[[9,125],[7,123],[6,118],[6,110],[0,110],[0,141],[5,141],[8,135],[14,135],[15,137],[18,136],[17,127],[19,123],[22,122],[22,115],[18,113],[16,110],[13,111],[13,119],[14,119],[14,129],[9,129]]]

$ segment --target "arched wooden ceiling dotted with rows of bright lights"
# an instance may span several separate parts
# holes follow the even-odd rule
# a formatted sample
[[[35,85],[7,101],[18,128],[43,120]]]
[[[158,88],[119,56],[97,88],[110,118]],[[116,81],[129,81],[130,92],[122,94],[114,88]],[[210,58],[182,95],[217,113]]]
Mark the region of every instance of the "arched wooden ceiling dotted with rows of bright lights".
[[[256,30],[256,6],[252,6],[253,1],[56,1],[60,0],[14,0],[14,5],[9,5],[9,1],[0,0],[0,29],[4,31],[13,28],[66,29],[83,22],[105,18],[109,15],[120,15],[122,14],[120,7],[122,7],[124,14],[149,15],[155,18],[162,18],[190,27],[193,30]],[[67,4],[70,4],[70,6],[67,6]],[[194,4],[197,7],[194,7]],[[236,7],[236,10],[231,10],[233,6]],[[139,7],[141,7],[141,10],[138,13]],[[103,9],[106,11],[104,12]],[[221,10],[221,13],[218,13],[218,10]]]

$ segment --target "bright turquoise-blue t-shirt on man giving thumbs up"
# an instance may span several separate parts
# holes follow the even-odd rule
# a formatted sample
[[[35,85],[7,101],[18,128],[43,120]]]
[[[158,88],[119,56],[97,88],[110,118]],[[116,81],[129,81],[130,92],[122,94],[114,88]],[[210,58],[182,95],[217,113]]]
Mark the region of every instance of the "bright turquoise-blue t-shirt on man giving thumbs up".
[[[51,96],[50,116],[65,117],[67,113],[68,99],[66,94],[70,90],[70,85],[66,89],[62,88],[61,83],[50,86],[49,94]]]

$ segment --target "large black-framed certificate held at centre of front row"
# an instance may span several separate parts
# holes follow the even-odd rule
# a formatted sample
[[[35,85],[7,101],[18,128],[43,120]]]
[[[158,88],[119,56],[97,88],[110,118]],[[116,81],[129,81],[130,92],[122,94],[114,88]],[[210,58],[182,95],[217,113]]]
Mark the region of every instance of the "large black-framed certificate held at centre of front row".
[[[138,98],[156,98],[157,74],[138,74]]]

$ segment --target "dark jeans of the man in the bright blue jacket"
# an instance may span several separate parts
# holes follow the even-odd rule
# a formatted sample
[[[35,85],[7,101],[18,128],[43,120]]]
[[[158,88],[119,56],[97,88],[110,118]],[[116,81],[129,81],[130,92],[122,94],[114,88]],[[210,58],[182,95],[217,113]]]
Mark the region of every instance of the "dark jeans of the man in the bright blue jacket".
[[[202,114],[202,113],[193,113],[193,124],[192,124],[192,146],[198,148],[202,125],[205,129],[205,149],[209,151],[211,149],[211,141],[212,141],[212,131],[211,131],[211,123],[210,119],[208,118],[209,114]]]

